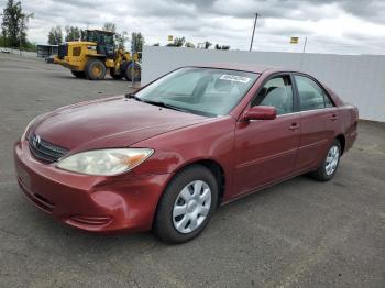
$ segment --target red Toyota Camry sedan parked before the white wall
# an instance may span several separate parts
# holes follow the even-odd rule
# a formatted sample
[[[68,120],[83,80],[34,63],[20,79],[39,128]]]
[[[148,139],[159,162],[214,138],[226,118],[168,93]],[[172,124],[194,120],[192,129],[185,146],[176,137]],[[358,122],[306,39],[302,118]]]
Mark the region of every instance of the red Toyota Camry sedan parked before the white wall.
[[[183,67],[35,118],[14,159],[22,191],[56,219],[182,243],[220,204],[306,173],[330,180],[356,135],[358,109],[304,73]]]

